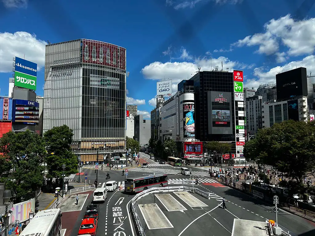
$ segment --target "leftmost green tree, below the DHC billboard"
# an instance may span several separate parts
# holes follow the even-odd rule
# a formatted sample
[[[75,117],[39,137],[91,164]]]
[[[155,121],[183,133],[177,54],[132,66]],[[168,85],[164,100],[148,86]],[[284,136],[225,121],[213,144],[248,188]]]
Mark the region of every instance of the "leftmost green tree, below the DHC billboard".
[[[17,201],[43,184],[45,142],[37,133],[8,132],[0,138],[0,176],[6,188],[13,188]],[[13,170],[13,171],[8,171]]]

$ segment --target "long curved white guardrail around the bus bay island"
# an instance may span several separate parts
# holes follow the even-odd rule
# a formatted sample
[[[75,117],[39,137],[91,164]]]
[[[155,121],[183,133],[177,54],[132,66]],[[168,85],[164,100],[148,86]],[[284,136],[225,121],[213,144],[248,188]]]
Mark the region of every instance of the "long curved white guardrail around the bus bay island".
[[[174,187],[160,187],[160,188],[149,188],[145,191],[142,191],[141,193],[135,195],[135,197],[131,200],[130,203],[130,212],[135,224],[135,228],[137,231],[137,235],[139,236],[145,236],[144,229],[142,227],[142,224],[140,222],[139,215],[135,208],[135,203],[145,197],[146,195],[149,195],[151,193],[161,193],[161,192],[178,192],[178,191],[191,191],[193,193],[199,194],[200,196],[210,199],[210,193],[204,192],[198,188],[192,188],[192,187],[186,187],[186,186],[174,186]]]

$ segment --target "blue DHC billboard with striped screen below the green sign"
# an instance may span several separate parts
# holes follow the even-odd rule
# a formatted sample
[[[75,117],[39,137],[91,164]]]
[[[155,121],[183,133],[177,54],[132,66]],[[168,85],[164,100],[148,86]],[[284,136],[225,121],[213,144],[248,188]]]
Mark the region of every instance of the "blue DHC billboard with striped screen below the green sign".
[[[39,103],[28,100],[13,100],[12,122],[38,125]]]

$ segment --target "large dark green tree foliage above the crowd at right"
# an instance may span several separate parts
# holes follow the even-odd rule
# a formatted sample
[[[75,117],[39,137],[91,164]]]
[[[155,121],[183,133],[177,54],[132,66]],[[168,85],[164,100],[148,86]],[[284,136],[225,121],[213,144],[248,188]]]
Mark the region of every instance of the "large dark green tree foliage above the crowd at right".
[[[244,145],[246,159],[275,166],[293,185],[302,183],[315,166],[315,126],[302,121],[284,121],[261,129]]]

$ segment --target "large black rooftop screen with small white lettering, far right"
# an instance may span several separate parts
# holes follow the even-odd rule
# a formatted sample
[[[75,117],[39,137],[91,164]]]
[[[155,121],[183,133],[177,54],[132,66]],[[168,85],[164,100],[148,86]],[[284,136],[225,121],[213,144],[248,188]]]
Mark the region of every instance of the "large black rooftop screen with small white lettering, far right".
[[[277,100],[307,96],[306,68],[300,67],[276,75]]]

